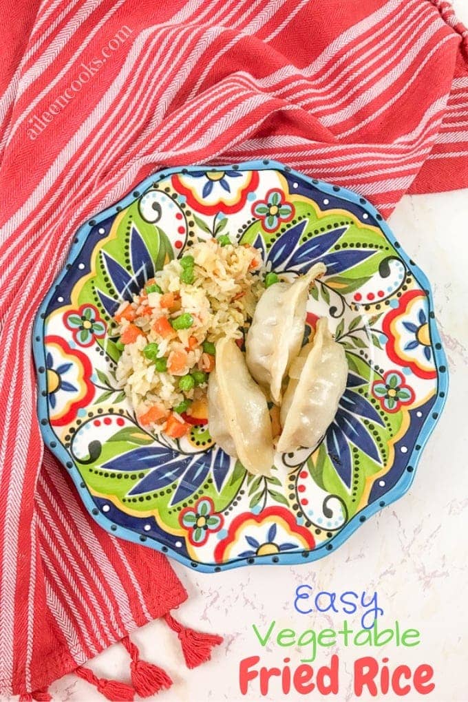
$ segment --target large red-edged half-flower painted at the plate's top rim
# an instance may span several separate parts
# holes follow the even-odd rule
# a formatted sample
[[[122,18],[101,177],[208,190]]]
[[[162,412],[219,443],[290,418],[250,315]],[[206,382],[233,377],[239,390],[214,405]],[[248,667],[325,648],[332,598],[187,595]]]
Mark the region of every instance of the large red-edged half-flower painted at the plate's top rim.
[[[191,171],[178,173],[171,179],[174,189],[187,198],[196,211],[215,215],[218,212],[239,212],[247,195],[258,186],[257,171]]]

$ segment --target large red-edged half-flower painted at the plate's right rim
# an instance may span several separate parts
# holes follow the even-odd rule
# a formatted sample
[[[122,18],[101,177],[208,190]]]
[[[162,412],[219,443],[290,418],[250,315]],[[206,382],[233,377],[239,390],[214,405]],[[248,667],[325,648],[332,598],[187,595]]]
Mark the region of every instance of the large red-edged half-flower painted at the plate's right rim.
[[[434,352],[429,331],[427,296],[410,290],[382,321],[387,336],[385,351],[392,362],[408,367],[418,378],[436,378]]]

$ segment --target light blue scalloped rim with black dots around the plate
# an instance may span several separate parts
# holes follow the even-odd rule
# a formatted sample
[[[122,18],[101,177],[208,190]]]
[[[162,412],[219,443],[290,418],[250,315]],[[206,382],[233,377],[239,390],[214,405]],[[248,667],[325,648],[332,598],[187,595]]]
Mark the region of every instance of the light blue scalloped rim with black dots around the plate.
[[[53,295],[55,294],[58,285],[69,270],[69,267],[73,265],[74,260],[77,258],[77,256],[79,256],[79,253],[81,252],[81,247],[83,246],[84,241],[88,237],[88,234],[93,229],[93,227],[102,222],[102,220],[108,218],[110,215],[115,214],[124,207],[132,204],[135,201],[135,199],[137,199],[137,197],[133,195],[134,192],[138,191],[140,192],[140,194],[142,194],[142,192],[145,192],[145,190],[151,187],[153,183],[157,183],[160,180],[164,180],[168,176],[172,176],[175,173],[181,173],[182,170],[184,171],[184,173],[191,173],[192,171],[201,170],[225,171],[234,169],[234,167],[235,170],[239,171],[278,170],[281,172],[286,172],[289,174],[289,176],[296,176],[300,180],[309,183],[309,185],[313,185],[314,187],[316,187],[317,190],[321,190],[323,194],[329,194],[333,197],[340,197],[345,201],[349,201],[353,204],[361,206],[361,208],[363,208],[363,211],[366,211],[370,216],[377,220],[377,226],[380,227],[382,232],[385,234],[385,237],[387,237],[387,239],[389,240],[390,244],[392,244],[392,246],[394,246],[395,249],[398,249],[399,256],[401,256],[405,265],[408,267],[408,270],[412,272],[417,282],[421,285],[422,289],[427,294],[429,307],[429,330],[433,341],[432,350],[434,352],[434,359],[437,368],[437,397],[436,401],[434,402],[434,406],[432,407],[432,411],[424,420],[424,423],[422,424],[422,427],[420,429],[420,434],[417,436],[417,443],[415,442],[415,446],[420,446],[420,448],[417,450],[413,448],[413,451],[409,454],[408,461],[406,463],[406,468],[403,474],[401,475],[399,481],[396,482],[396,484],[389,490],[388,493],[385,494],[382,500],[375,500],[373,503],[367,505],[365,508],[363,508],[363,510],[354,515],[354,517],[352,517],[352,519],[350,519],[349,522],[347,522],[345,527],[343,527],[342,531],[340,531],[339,534],[337,534],[337,536],[335,536],[332,541],[330,541],[329,543],[323,543],[323,545],[314,550],[303,550],[302,552],[295,551],[292,553],[283,552],[275,556],[257,556],[255,557],[255,559],[249,558],[249,562],[247,562],[246,557],[243,557],[232,560],[225,564],[205,564],[189,559],[177,552],[176,550],[174,550],[173,548],[164,546],[158,541],[154,541],[153,539],[147,537],[141,538],[141,536],[143,536],[142,534],[132,531],[127,527],[120,527],[119,525],[114,524],[114,522],[108,519],[102,512],[98,511],[98,514],[94,513],[96,507],[91,493],[88,491],[86,484],[83,482],[79,470],[76,467],[74,461],[72,461],[71,456],[69,456],[64,446],[60,444],[60,442],[58,442],[58,437],[55,436],[55,433],[51,429],[51,425],[48,420],[48,404],[46,401],[46,396],[42,395],[42,392],[46,390],[46,373],[39,372],[39,368],[45,366],[44,317],[46,309]],[[413,483],[417,465],[420,461],[420,456],[422,454],[422,451],[424,450],[424,446],[427,443],[427,440],[429,439],[429,436],[432,434],[432,431],[434,430],[437,422],[439,421],[443,408],[446,404],[448,392],[448,366],[446,354],[443,350],[441,337],[437,329],[435,314],[431,314],[431,312],[434,313],[434,298],[432,295],[432,287],[429,284],[429,280],[427,279],[426,274],[424,274],[424,272],[420,269],[419,266],[413,263],[412,259],[401,248],[401,244],[399,243],[399,241],[397,241],[396,237],[394,237],[392,230],[390,229],[389,225],[382,217],[380,212],[377,210],[377,208],[370,204],[370,202],[368,202],[366,198],[362,197],[359,194],[356,194],[352,190],[348,190],[347,188],[338,185],[325,183],[323,182],[323,180],[319,180],[317,178],[311,178],[310,176],[306,176],[304,173],[300,173],[300,171],[296,171],[294,168],[290,168],[290,166],[282,164],[280,161],[274,161],[271,159],[264,159],[262,161],[240,161],[239,163],[229,164],[226,166],[198,164],[196,166],[174,166],[172,168],[163,168],[161,171],[156,171],[156,173],[153,173],[152,176],[148,176],[147,178],[145,178],[145,180],[142,180],[142,182],[138,183],[138,185],[133,187],[131,189],[131,192],[129,192],[125,197],[123,197],[107,209],[100,211],[100,213],[98,213],[97,215],[92,216],[86,223],[83,223],[83,225],[79,227],[74,236],[69,255],[67,256],[67,260],[65,261],[62,271],[58,275],[57,279],[55,279],[55,282],[51,286],[51,289],[48,291],[46,297],[44,298],[39,307],[39,310],[36,314],[36,319],[34,321],[32,347],[34,362],[37,371],[37,383],[39,388],[37,399],[37,411],[39,416],[39,427],[41,429],[41,435],[44,439],[44,443],[52,451],[55,457],[58,458],[58,460],[60,461],[60,463],[62,463],[64,468],[66,468],[67,472],[69,472],[69,475],[72,477],[72,480],[76,486],[76,490],[78,491],[81,500],[83,501],[86,509],[88,510],[88,513],[93,519],[95,519],[95,522],[97,522],[100,525],[100,527],[102,527],[102,529],[105,529],[105,531],[109,532],[109,534],[111,534],[112,536],[119,536],[120,538],[126,539],[126,541],[138,543],[139,545],[142,545],[144,543],[146,548],[149,547],[156,551],[159,551],[164,555],[172,557],[173,559],[182,563],[183,565],[191,567],[192,569],[196,569],[197,571],[202,573],[226,571],[232,568],[238,568],[246,565],[297,565],[300,563],[310,563],[330,554],[332,551],[335,551],[337,548],[339,548],[343,543],[345,543],[345,541],[347,541],[347,539],[350,536],[352,536],[352,534],[354,534],[354,531],[356,531],[356,529],[358,529],[359,526],[363,524],[363,522],[366,522],[367,519],[375,515],[376,512],[380,512],[380,510],[387,507],[387,505],[403,497],[403,495],[406,494],[406,492],[410,488],[410,485]],[[440,345],[440,348],[436,347],[437,344]],[[441,373],[441,371],[439,371],[439,366],[446,366],[446,371],[444,373]],[[382,505],[382,502],[384,502],[385,504]],[[251,562],[252,560],[253,562]]]

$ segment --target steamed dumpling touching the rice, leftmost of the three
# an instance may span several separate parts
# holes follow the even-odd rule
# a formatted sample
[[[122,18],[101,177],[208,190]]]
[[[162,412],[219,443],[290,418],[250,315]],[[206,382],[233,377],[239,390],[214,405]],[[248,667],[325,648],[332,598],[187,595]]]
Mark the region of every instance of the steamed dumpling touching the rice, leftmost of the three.
[[[233,339],[216,344],[216,365],[208,380],[208,426],[215,442],[246,470],[269,475],[274,448],[267,400]]]

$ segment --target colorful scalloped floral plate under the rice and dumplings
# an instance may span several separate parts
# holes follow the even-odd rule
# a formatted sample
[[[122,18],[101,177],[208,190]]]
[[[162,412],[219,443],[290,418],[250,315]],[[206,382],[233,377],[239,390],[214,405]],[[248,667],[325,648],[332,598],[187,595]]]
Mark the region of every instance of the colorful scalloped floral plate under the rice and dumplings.
[[[114,370],[112,314],[197,238],[229,233],[268,269],[327,266],[307,332],[326,315],[347,390],[311,455],[249,475],[194,426],[143,430]],[[337,548],[410,486],[445,401],[446,359],[424,274],[365,199],[270,161],[172,168],[83,225],[36,319],[44,440],[105,529],[201,571],[299,563]]]

